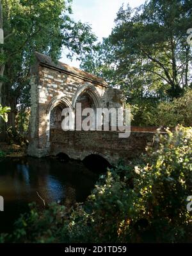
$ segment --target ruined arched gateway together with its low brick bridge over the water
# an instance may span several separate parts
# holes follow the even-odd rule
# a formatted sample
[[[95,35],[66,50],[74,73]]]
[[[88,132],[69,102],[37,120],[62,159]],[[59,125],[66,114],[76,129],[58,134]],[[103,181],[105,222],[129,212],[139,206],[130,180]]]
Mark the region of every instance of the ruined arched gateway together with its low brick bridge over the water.
[[[54,63],[40,53],[35,53],[35,57],[36,63],[31,68],[30,156],[64,153],[84,160],[99,155],[115,164],[120,159],[127,162],[138,156],[147,143],[152,143],[154,131],[132,129],[129,138],[119,138],[119,131],[63,131],[64,108],[70,108],[74,114],[79,102],[82,109],[124,108],[122,91],[109,87],[102,78],[61,62]]]

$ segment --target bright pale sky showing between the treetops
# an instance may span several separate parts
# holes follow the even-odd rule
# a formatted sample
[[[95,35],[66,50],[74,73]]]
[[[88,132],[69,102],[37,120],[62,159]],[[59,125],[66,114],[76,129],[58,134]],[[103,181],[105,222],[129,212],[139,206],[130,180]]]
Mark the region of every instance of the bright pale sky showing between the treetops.
[[[93,33],[102,41],[103,37],[108,37],[114,26],[116,13],[122,4],[129,5],[134,8],[145,3],[145,0],[73,0],[72,10],[73,19],[89,23],[92,26]],[[79,62],[76,60],[68,60],[67,51],[63,51],[61,62],[70,66],[79,68]]]

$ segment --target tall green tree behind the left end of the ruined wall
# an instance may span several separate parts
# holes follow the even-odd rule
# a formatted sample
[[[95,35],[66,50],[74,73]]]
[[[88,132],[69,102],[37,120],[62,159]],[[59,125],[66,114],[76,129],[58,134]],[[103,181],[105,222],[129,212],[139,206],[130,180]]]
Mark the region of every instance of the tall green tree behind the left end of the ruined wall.
[[[54,60],[63,47],[71,55],[89,51],[96,40],[88,24],[71,18],[71,0],[3,0],[4,45],[1,47],[3,105],[11,107],[9,124],[15,127],[17,104],[29,106],[29,68],[33,52]]]

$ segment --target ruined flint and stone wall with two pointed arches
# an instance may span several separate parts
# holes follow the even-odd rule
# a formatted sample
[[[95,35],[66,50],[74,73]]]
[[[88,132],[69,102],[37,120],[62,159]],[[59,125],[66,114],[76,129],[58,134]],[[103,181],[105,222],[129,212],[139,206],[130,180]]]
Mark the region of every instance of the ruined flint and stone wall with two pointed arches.
[[[36,63],[31,68],[30,156],[53,153],[50,151],[51,111],[57,105],[75,111],[77,98],[83,91],[92,96],[96,107],[123,107],[122,91],[108,87],[102,78],[61,62],[54,63],[40,53],[35,53],[35,57]]]

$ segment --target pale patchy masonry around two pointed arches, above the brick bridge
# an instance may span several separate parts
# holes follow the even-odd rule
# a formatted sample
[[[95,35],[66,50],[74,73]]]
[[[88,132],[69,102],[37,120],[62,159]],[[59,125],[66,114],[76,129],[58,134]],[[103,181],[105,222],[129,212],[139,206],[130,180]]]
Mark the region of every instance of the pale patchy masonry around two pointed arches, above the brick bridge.
[[[76,71],[77,72],[77,71]],[[77,72],[78,73],[78,72]],[[81,71],[79,71],[81,73]],[[92,77],[92,76],[91,76]],[[100,84],[100,78],[78,77],[65,71],[37,62],[31,68],[31,121],[28,154],[45,156],[50,145],[50,113],[53,102],[65,99],[70,107],[81,87],[94,87],[100,97],[100,107],[122,107],[122,91],[107,84]],[[98,80],[98,81],[97,81]],[[68,107],[66,105],[65,107]]]

